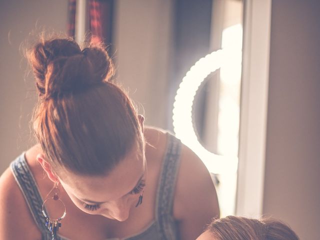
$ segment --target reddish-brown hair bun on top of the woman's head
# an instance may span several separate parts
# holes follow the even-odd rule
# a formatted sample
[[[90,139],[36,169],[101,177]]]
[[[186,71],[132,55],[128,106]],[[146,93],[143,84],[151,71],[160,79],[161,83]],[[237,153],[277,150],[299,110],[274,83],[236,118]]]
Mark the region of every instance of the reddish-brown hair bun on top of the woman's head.
[[[71,39],[36,44],[29,54],[39,96],[44,99],[107,81],[113,66],[102,46],[80,49]]]

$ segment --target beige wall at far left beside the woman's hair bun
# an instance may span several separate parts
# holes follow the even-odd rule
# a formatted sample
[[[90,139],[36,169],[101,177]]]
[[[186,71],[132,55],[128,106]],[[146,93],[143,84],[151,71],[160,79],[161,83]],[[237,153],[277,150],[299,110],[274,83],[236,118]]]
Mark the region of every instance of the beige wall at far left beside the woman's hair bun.
[[[65,31],[66,0],[12,0],[0,3],[0,173],[31,145],[29,120],[35,103],[32,74],[20,44],[41,26]]]

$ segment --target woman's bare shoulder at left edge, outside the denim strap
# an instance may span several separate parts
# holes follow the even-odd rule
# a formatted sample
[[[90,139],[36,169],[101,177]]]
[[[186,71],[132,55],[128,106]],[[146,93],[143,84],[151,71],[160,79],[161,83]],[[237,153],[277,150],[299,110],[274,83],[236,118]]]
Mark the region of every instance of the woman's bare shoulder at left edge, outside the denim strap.
[[[0,176],[0,239],[40,239],[10,167]]]

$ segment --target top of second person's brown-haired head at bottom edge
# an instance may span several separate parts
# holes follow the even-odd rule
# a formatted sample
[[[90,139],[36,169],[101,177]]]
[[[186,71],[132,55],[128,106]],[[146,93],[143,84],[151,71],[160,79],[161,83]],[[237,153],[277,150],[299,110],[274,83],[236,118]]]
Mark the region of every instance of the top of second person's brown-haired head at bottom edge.
[[[197,240],[298,240],[286,224],[271,218],[260,220],[227,216],[213,220]]]

